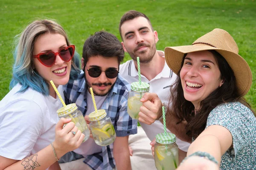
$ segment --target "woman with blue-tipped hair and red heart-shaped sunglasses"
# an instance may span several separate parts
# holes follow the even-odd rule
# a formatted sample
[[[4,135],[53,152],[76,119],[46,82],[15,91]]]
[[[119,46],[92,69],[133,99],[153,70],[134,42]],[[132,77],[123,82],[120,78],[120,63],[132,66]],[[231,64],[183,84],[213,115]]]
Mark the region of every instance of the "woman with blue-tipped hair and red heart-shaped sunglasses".
[[[60,169],[58,160],[78,148],[84,134],[58,118],[62,104],[50,80],[61,88],[76,79],[75,46],[58,23],[35,20],[20,34],[14,57],[12,90],[0,101],[0,170]]]

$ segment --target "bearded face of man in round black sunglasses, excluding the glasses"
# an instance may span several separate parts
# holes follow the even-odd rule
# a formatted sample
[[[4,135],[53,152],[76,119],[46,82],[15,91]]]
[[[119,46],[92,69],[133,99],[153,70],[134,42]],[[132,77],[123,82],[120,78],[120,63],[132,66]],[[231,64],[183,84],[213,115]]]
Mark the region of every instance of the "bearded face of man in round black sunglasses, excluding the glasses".
[[[106,77],[104,71],[109,69],[114,69],[118,71],[118,59],[117,57],[102,57],[102,56],[93,56],[88,58],[86,63],[86,67],[84,66],[83,58],[82,58],[82,68],[85,68],[85,79],[88,91],[90,92],[90,87],[93,88],[93,94],[96,96],[105,96],[111,90],[113,85],[116,82],[116,78],[110,79]],[[87,69],[90,68],[99,68],[102,70],[102,73],[99,77],[90,77]]]

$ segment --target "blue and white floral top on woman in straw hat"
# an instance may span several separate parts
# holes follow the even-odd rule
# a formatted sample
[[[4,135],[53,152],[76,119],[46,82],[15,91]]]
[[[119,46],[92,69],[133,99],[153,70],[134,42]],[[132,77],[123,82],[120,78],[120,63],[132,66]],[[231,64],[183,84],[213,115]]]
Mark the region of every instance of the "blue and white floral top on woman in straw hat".
[[[206,128],[210,125],[227,128],[233,137],[220,170],[256,170],[256,117],[249,108],[240,102],[218,105],[209,113]]]

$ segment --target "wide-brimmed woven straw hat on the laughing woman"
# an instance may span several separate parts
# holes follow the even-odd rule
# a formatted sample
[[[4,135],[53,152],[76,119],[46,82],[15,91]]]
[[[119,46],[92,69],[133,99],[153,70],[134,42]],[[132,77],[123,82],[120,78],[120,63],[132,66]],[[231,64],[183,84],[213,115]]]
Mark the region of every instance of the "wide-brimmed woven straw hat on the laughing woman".
[[[238,46],[227,31],[215,28],[192,45],[166,47],[164,51],[169,68],[177,74],[184,54],[205,50],[215,50],[227,60],[235,74],[239,94],[247,94],[252,85],[252,72],[247,62],[238,54]]]

